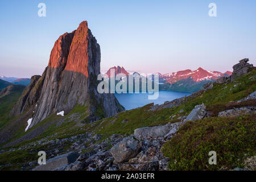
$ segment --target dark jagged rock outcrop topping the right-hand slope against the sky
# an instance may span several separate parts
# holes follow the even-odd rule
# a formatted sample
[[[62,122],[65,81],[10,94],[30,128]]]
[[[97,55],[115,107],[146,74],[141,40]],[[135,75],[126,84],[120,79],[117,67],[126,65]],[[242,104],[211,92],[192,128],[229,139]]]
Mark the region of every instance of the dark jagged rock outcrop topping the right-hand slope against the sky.
[[[249,59],[242,59],[239,61],[238,64],[235,64],[233,66],[233,73],[231,75],[231,81],[234,81],[237,77],[240,77],[242,75],[246,75],[249,73],[249,69],[253,67],[253,64],[247,63]]]

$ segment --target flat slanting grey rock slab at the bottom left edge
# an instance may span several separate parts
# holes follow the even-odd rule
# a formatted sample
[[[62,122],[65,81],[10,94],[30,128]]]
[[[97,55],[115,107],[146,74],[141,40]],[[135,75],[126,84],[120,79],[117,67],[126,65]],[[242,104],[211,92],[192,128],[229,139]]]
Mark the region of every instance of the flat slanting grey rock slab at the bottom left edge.
[[[42,164],[32,169],[32,171],[52,171],[75,162],[78,157],[78,152],[68,152],[67,154],[59,155],[47,160],[46,164]]]

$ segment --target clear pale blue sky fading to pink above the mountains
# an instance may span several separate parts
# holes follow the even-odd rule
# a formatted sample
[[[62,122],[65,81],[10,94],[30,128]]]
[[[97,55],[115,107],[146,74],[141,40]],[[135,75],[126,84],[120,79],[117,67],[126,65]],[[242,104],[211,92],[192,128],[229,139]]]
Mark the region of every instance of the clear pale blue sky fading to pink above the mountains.
[[[38,4],[46,4],[46,17]],[[216,3],[217,17],[208,15]],[[256,64],[255,0],[11,1],[0,6],[0,75],[42,75],[53,44],[82,20],[101,46],[101,70],[142,73]]]

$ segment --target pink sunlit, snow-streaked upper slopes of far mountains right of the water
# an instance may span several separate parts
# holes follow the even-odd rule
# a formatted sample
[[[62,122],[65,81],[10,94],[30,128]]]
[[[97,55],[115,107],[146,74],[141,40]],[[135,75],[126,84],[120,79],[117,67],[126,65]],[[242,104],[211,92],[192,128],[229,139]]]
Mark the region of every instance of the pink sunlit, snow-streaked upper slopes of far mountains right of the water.
[[[217,78],[222,77],[224,75],[230,76],[232,72],[217,72],[217,71],[207,71],[203,68],[198,68],[195,71],[192,71],[191,69],[186,69],[184,71],[178,71],[173,73],[168,73],[160,76],[160,78],[163,78],[164,81],[174,84],[175,82],[192,77],[193,81],[198,82],[202,80],[217,80]]]

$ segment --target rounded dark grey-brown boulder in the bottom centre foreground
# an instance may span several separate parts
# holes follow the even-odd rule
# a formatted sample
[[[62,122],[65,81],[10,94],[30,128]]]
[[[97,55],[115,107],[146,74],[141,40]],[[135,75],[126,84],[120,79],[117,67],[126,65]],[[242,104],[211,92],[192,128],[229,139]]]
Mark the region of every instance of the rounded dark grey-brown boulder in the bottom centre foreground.
[[[141,142],[134,137],[124,138],[121,142],[115,144],[110,150],[114,157],[114,163],[122,163],[134,158],[141,149],[141,146]]]

